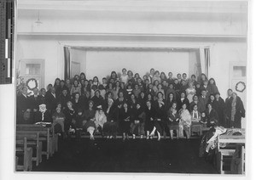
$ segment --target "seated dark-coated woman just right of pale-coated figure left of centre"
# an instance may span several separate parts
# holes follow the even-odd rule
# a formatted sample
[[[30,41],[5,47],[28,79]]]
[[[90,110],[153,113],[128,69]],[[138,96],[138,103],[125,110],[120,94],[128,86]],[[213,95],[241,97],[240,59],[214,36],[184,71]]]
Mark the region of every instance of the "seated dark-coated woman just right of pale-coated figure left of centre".
[[[107,135],[107,138],[115,138],[118,129],[117,108],[113,106],[112,98],[108,98],[108,107],[105,112],[107,122],[104,124],[103,132]]]

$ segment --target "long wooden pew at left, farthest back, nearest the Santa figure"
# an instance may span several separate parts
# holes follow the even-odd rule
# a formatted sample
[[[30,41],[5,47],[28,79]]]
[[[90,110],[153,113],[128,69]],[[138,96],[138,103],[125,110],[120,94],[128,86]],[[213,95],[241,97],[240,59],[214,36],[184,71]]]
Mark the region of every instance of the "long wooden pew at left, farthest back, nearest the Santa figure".
[[[40,132],[40,141],[44,141],[44,138],[47,138],[47,159],[49,159],[49,155],[52,156],[58,151],[58,135],[55,134],[54,128],[35,124],[20,124],[16,126],[16,130],[17,132]],[[45,153],[43,154],[45,155]]]

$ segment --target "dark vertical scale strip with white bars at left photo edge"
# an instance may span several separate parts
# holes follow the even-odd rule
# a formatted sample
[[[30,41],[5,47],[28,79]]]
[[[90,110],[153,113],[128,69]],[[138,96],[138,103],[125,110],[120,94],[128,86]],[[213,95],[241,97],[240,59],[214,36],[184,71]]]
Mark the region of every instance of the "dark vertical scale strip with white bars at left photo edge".
[[[0,0],[0,84],[12,83],[15,40],[15,2]]]

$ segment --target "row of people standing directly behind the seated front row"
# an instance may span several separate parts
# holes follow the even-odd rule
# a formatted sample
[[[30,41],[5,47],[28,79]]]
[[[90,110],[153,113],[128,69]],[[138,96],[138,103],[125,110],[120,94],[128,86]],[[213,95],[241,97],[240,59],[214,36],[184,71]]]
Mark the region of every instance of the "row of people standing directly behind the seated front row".
[[[202,95],[197,96],[196,94],[193,96],[193,101],[189,103],[189,99],[186,98],[186,93],[181,93],[180,98],[175,98],[174,93],[170,93],[168,98],[163,98],[163,93],[159,92],[156,96],[152,96],[150,93],[140,93],[139,98],[135,96],[135,94],[131,93],[131,95],[127,96],[123,91],[119,91],[119,98],[114,100],[114,106],[117,107],[119,103],[127,101],[131,104],[131,108],[135,107],[135,104],[138,102],[145,106],[145,102],[147,100],[151,101],[153,106],[161,102],[165,104],[165,110],[169,110],[172,107],[173,102],[177,102],[177,110],[182,108],[182,104],[187,105],[188,110],[193,110],[193,106],[197,104],[198,110],[200,113],[204,112],[207,109],[207,103],[212,104],[212,108],[216,111],[218,115],[218,122],[220,126],[223,127],[241,127],[241,116],[244,116],[245,110],[243,109],[243,104],[241,99],[236,96],[234,93],[234,97],[237,99],[236,103],[236,114],[233,116],[234,121],[231,121],[231,114],[232,114],[232,99],[231,97],[231,90],[228,91],[230,96],[226,98],[226,102],[224,103],[223,98],[219,96],[219,93],[211,94],[209,98],[207,98],[206,91],[202,90]],[[90,98],[90,94],[88,93],[87,96],[83,97],[80,96],[79,93],[75,93],[74,98],[70,98],[67,95],[67,90],[63,90],[63,93],[60,96],[60,101],[58,98],[53,98],[54,101],[47,101],[47,98],[42,98],[42,96],[37,96],[37,90],[34,91],[34,95],[32,97],[26,98],[27,88],[23,88],[23,93],[17,99],[17,123],[31,123],[34,121],[34,116],[36,112],[38,112],[38,105],[39,104],[46,104],[49,113],[52,115],[55,111],[55,107],[57,104],[61,104],[63,109],[67,108],[67,102],[71,101],[73,103],[74,110],[87,110],[89,108],[88,102],[92,100],[94,102],[94,109],[97,106],[102,105],[103,109],[106,109],[108,105],[108,98],[113,98],[113,94],[108,92],[106,94],[106,99],[102,98],[101,93],[99,90],[95,92],[95,96]],[[47,96],[46,96],[47,97]],[[57,103],[59,102],[59,103]],[[155,105],[156,106],[156,105]],[[230,117],[230,118],[229,118]],[[233,122],[233,124],[231,124]]]

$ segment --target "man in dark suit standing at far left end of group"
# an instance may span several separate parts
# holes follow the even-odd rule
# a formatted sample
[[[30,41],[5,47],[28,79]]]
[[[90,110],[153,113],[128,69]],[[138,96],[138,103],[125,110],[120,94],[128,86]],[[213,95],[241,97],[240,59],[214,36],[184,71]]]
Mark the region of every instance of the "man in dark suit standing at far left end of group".
[[[31,104],[27,97],[27,87],[22,88],[20,96],[17,97],[17,124],[31,124]]]

